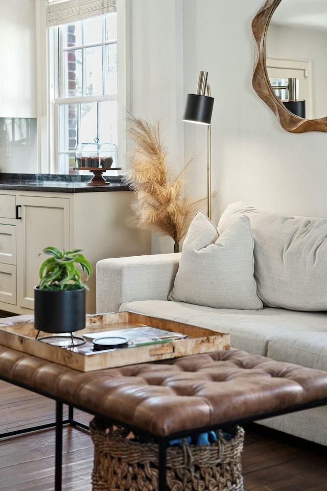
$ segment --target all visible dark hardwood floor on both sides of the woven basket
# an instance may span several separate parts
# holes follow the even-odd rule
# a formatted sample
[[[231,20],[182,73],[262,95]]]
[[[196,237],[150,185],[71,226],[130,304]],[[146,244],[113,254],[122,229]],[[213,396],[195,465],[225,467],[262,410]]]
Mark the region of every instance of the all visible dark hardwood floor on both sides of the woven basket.
[[[0,381],[0,433],[54,420],[55,403]],[[88,423],[92,416],[76,411]],[[274,432],[245,427],[242,457],[248,491],[327,491],[325,447]],[[0,441],[1,491],[53,491],[54,430]],[[65,428],[63,491],[91,491],[93,445],[85,432]]]

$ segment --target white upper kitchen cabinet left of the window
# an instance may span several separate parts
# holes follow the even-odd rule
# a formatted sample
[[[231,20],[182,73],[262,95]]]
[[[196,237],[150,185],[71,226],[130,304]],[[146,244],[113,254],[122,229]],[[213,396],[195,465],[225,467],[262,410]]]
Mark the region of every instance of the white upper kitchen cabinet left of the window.
[[[0,118],[36,118],[35,0],[0,0]]]

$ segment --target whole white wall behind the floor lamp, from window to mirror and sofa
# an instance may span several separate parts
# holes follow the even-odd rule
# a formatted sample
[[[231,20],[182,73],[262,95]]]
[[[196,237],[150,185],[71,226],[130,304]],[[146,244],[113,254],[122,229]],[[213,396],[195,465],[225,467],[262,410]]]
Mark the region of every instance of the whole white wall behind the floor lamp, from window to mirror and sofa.
[[[252,88],[251,22],[263,0],[131,3],[131,109],[136,116],[167,118],[171,162],[176,167],[182,154],[180,121],[186,93],[196,91],[200,70],[209,74],[215,98],[212,189],[218,193],[213,221],[235,201],[266,211],[327,216],[327,133],[285,131]],[[180,18],[174,20],[174,11],[183,13],[182,27]],[[181,33],[182,71],[178,65]],[[206,128],[182,125],[184,161],[197,156],[191,166],[190,192],[205,196]]]

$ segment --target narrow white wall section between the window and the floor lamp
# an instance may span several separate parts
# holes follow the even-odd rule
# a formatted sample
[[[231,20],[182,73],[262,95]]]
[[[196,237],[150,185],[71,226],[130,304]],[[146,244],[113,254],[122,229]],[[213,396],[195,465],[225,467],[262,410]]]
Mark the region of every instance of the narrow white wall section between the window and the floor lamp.
[[[160,121],[168,149],[167,164],[184,166],[183,2],[131,0],[131,113]],[[173,240],[152,234],[152,252],[173,252]]]

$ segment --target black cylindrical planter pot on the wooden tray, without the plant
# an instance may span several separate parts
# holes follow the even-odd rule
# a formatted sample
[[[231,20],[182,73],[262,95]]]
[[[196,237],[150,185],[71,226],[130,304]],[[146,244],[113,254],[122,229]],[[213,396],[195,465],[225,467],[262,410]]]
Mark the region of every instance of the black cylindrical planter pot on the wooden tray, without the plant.
[[[34,327],[38,331],[64,333],[85,328],[85,288],[67,291],[34,288]]]

